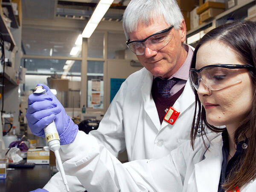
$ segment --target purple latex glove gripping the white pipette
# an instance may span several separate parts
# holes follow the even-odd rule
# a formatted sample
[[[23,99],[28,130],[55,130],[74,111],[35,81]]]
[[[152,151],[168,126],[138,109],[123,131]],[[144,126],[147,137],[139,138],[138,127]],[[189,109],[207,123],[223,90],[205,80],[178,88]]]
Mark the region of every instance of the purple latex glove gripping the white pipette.
[[[72,143],[78,132],[78,126],[67,115],[64,107],[44,84],[37,84],[46,90],[47,95],[32,93],[28,99],[26,118],[32,134],[45,137],[44,128],[55,122],[61,145]]]

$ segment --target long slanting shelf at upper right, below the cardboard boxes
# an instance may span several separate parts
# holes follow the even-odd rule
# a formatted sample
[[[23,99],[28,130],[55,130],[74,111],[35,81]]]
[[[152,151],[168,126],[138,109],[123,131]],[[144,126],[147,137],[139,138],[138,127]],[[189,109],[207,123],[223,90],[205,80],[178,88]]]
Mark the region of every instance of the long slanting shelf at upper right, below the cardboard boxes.
[[[196,27],[195,29],[191,29],[187,32],[187,38],[189,38],[192,35],[195,35],[196,33],[207,29],[208,27],[214,26],[220,26],[224,23],[226,23],[228,17],[234,17],[235,20],[244,20],[245,17],[247,17],[247,9],[251,6],[255,5],[255,0],[244,0],[244,3],[241,3],[239,5],[236,5],[227,11],[221,13],[220,15],[217,15],[213,20],[201,24],[200,26]]]

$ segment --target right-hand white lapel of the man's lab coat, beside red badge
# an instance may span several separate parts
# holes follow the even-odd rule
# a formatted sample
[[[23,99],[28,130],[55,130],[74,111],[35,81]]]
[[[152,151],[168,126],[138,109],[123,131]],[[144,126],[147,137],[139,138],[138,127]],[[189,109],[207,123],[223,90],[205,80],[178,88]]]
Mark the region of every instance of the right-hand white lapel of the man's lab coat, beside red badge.
[[[187,80],[183,92],[181,93],[180,97],[176,100],[175,104],[172,106],[177,111],[180,111],[180,115],[178,119],[180,118],[180,116],[183,115],[183,112],[186,111],[187,108],[189,108],[191,105],[194,104],[194,102],[195,102],[195,94],[193,93],[190,87],[189,80]],[[161,125],[161,129],[166,127],[167,125],[169,125],[169,123],[166,121],[163,121]]]

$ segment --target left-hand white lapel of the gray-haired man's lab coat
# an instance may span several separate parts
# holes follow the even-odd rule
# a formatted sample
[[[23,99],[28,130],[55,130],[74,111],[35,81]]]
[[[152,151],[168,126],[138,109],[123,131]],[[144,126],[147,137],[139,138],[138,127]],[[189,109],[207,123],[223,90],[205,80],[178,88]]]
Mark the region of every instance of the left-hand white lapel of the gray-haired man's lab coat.
[[[151,121],[154,123],[157,130],[160,129],[160,121],[157,113],[157,108],[154,103],[154,99],[151,95],[151,88],[154,76],[144,68],[145,77],[142,82],[141,95],[144,102],[144,110],[148,114]]]

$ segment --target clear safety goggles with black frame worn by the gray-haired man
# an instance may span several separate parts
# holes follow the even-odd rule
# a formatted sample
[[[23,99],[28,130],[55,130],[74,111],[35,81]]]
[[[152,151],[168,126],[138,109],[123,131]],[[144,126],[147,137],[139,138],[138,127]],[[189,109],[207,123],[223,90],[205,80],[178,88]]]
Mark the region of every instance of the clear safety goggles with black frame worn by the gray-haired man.
[[[173,25],[142,40],[128,40],[126,45],[136,55],[144,55],[145,47],[158,51],[163,49],[172,40],[173,34],[169,33],[172,27]]]

